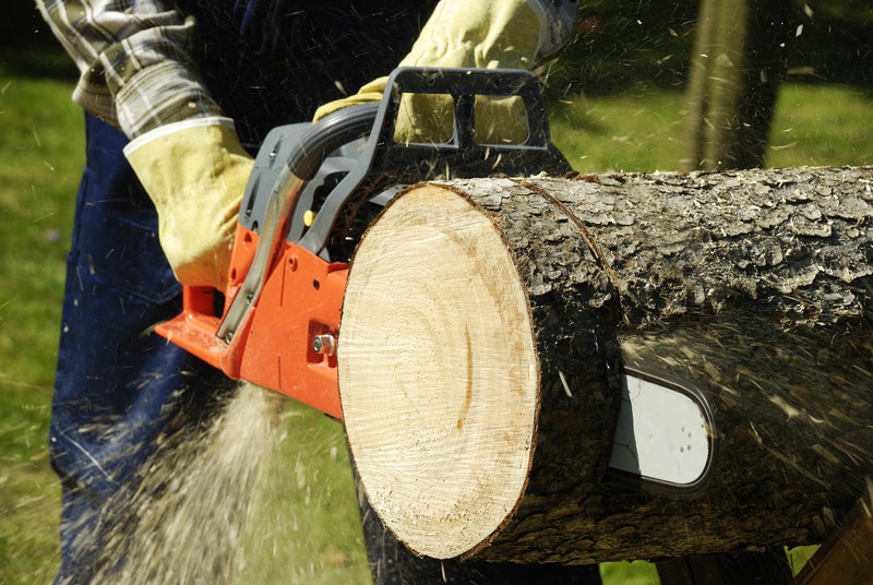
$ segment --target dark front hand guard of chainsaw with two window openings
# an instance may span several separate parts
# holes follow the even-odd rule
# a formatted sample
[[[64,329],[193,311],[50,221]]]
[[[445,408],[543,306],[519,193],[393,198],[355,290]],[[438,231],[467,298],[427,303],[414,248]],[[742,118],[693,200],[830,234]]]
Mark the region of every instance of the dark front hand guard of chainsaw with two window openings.
[[[397,117],[407,94],[451,96],[452,136],[446,142],[397,142]],[[519,143],[476,139],[477,97],[516,97],[524,105],[527,136]],[[342,111],[342,110],[340,110]],[[549,118],[539,80],[524,70],[398,68],[388,76],[372,132],[358,163],[331,191],[300,246],[321,252],[337,217],[354,199],[373,189],[366,183],[411,184],[419,181],[488,176],[530,176],[572,171],[551,143]],[[357,198],[355,196],[357,194]]]

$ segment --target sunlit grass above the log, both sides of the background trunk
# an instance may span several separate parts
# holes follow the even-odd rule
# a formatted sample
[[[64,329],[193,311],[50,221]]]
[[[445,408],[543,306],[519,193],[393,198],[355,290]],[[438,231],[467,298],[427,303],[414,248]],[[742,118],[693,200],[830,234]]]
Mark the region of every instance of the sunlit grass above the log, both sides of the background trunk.
[[[681,92],[582,97],[555,105],[552,139],[581,172],[677,170],[685,114]],[[871,123],[869,91],[786,83],[765,164],[873,164]]]

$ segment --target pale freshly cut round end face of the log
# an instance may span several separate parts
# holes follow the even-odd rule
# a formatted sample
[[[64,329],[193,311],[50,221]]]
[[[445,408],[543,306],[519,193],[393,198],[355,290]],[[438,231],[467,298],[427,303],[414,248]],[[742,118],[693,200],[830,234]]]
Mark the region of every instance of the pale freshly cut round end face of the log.
[[[486,545],[524,493],[540,387],[499,229],[447,188],[399,198],[356,252],[338,351],[349,445],[384,524],[428,557]]]

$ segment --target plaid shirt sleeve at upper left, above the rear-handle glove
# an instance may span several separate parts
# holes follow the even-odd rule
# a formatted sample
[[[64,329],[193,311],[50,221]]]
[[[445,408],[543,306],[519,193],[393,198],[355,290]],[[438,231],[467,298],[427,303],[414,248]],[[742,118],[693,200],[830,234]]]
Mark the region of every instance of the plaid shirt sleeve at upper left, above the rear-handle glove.
[[[37,0],[75,61],[73,99],[136,138],[192,118],[223,117],[190,52],[195,23],[166,0]]]

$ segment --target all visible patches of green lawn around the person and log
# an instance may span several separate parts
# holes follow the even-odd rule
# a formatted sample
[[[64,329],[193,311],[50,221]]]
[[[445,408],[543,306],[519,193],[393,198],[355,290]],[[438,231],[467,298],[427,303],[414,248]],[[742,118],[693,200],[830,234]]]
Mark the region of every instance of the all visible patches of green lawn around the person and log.
[[[59,487],[45,441],[63,264],[82,159],[72,82],[27,79],[0,60],[0,585],[48,583]],[[786,85],[772,166],[873,164],[871,95]],[[555,142],[581,171],[677,167],[679,93],[555,105]],[[247,537],[239,583],[367,583],[342,428],[303,407],[283,416],[268,494]],[[646,563],[602,568],[611,585],[656,584]]]

